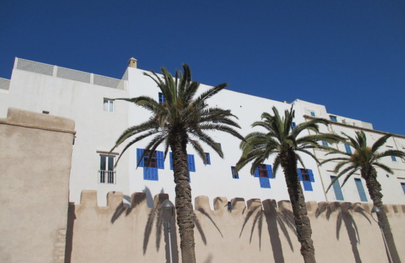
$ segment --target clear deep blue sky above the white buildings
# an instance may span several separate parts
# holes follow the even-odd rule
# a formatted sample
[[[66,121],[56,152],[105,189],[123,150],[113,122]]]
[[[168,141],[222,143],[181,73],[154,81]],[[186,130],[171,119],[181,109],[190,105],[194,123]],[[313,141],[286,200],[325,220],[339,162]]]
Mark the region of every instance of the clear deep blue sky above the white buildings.
[[[14,57],[121,78],[132,56],[405,135],[405,1],[0,2],[1,78]]]

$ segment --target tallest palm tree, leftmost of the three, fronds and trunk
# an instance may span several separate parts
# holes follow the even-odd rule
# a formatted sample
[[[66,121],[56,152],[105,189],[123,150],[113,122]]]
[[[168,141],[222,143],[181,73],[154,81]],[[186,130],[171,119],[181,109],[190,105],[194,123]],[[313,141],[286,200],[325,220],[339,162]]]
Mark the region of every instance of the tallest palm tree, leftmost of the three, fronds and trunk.
[[[237,117],[231,114],[230,110],[208,107],[206,104],[208,98],[222,91],[227,84],[219,84],[216,87],[201,91],[197,95],[199,83],[191,80],[191,71],[187,64],[183,64],[183,73],[176,71],[175,78],[165,68],[162,68],[161,71],[163,77],[153,71],[144,74],[156,82],[165,98],[163,103],[159,104],[147,96],[120,99],[133,102],[147,109],[152,116],[144,123],[125,130],[116,141],[114,148],[131,138],[123,148],[121,157],[134,143],[153,136],[150,143],[145,147],[142,160],[144,156],[153,156],[152,154],[161,144],[165,149],[165,158],[170,147],[174,183],[176,183],[175,206],[181,239],[182,262],[195,262],[195,223],[191,203],[191,188],[190,183],[188,183],[187,144],[190,143],[206,163],[206,155],[200,142],[211,147],[219,156],[224,156],[219,145],[207,134],[207,131],[224,131],[237,138],[243,139],[243,137],[233,129],[233,127],[240,128],[240,126],[233,120]],[[151,159],[148,158],[149,161]]]

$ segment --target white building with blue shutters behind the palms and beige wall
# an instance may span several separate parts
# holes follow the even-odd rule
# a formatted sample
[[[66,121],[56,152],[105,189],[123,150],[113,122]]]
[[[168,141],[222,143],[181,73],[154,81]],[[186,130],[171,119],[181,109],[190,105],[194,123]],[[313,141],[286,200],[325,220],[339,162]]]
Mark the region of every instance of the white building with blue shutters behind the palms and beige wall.
[[[147,71],[136,69],[136,60],[129,60],[129,65],[122,80],[117,80],[16,58],[11,79],[0,79],[0,118],[6,117],[9,107],[17,107],[75,120],[77,134],[75,141],[72,142],[74,146],[70,178],[70,200],[75,203],[80,202],[82,190],[98,190],[98,203],[101,206],[105,205],[105,196],[109,191],[121,191],[128,197],[132,192],[143,191],[147,193],[150,204],[154,194],[159,192],[167,192],[170,194],[170,199],[174,199],[174,182],[169,156],[163,162],[158,153],[156,168],[147,170],[144,167],[136,168],[137,154],[145,147],[147,139],[127,150],[116,168],[114,168],[114,162],[122,147],[109,154],[114,142],[127,127],[141,123],[150,116],[145,109],[115,99],[145,95],[159,100],[159,89],[156,84],[143,75]],[[205,88],[206,86],[201,84],[201,89]],[[223,109],[231,109],[232,113],[239,118],[242,135],[248,134],[251,131],[251,123],[259,120],[262,112],[271,111],[271,107],[276,106],[280,112],[291,108],[291,104],[287,102],[230,90],[221,91],[208,103]],[[296,110],[296,123],[304,122],[309,118],[331,119],[334,123],[323,127],[322,131],[336,134],[344,131],[354,136],[354,131],[363,130],[370,143],[385,134],[373,130],[371,123],[328,114],[323,105],[302,100],[295,100],[292,105]],[[210,163],[204,165],[193,149],[188,149],[190,162],[194,162],[190,168],[195,170],[190,172],[194,197],[206,195],[211,200],[215,197],[227,197],[228,200],[234,197],[243,197],[245,200],[289,199],[281,170],[275,178],[258,178],[249,174],[250,167],[244,167],[239,172],[238,178],[233,178],[231,167],[240,158],[240,141],[228,134],[212,135],[218,143],[221,143],[225,156],[223,159],[206,147]],[[334,145],[334,147],[346,149],[343,144]],[[405,136],[393,136],[384,147],[404,150]],[[315,154],[320,160],[325,158],[325,152],[322,150],[316,150]],[[354,174],[341,191],[339,191],[339,185],[335,185],[325,194],[325,189],[331,182],[331,176],[334,176],[333,163],[318,167],[309,156],[302,155],[302,157],[307,169],[312,170],[314,174],[312,182],[303,182],[306,201],[371,201],[366,184],[359,174]],[[272,165],[272,163],[273,159],[269,159],[266,164]],[[395,172],[389,175],[382,170],[377,170],[378,179],[383,188],[384,202],[405,203],[404,160],[386,158],[384,163]],[[195,169],[192,169],[193,167]],[[269,175],[271,173],[270,170],[266,172]]]

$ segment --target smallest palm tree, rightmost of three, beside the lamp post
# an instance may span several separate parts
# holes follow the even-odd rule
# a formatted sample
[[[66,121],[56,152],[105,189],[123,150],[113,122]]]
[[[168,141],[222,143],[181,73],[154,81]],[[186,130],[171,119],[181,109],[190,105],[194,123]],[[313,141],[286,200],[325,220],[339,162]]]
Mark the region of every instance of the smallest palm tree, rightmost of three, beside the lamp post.
[[[379,167],[382,170],[393,174],[393,170],[391,170],[390,167],[381,163],[381,158],[386,156],[405,158],[405,153],[395,149],[388,149],[384,152],[377,152],[377,150],[386,143],[386,141],[392,136],[392,134],[386,134],[382,136],[371,147],[367,145],[366,134],[364,134],[363,131],[356,131],[355,138],[344,133],[343,135],[346,137],[345,143],[353,147],[354,152],[351,154],[348,152],[341,152],[339,151],[339,149],[329,148],[330,153],[328,154],[341,154],[343,156],[329,158],[322,162],[327,163],[330,161],[339,161],[339,163],[337,163],[334,167],[336,177],[334,178],[332,183],[330,183],[326,191],[328,191],[332,184],[341,176],[345,175],[345,179],[342,183],[343,186],[348,181],[350,176],[354,174],[354,172],[360,170],[361,177],[366,181],[368,193],[370,194],[372,203],[374,203],[374,206],[377,206],[377,208],[380,209],[380,212],[377,212],[377,217],[379,224],[382,227],[383,233],[386,237],[388,249],[391,253],[391,256],[393,257],[393,261],[401,262],[401,260],[399,260],[399,255],[395,246],[393,233],[391,233],[390,223],[388,222],[386,212],[383,209],[383,202],[381,200],[383,194],[381,194],[381,185],[377,181],[377,170],[375,170],[375,167]]]

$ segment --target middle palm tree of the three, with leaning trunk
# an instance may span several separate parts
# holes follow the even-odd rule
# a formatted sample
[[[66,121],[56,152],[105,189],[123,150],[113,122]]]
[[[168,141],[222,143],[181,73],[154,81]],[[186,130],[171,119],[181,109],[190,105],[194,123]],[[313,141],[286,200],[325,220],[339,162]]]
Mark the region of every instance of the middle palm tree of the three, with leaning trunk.
[[[303,188],[301,188],[297,171],[298,161],[303,167],[305,167],[305,165],[300,155],[298,155],[298,152],[308,154],[318,162],[314,154],[309,152],[309,149],[322,148],[323,146],[319,145],[318,141],[325,140],[332,143],[335,142],[339,136],[334,134],[318,134],[318,125],[327,125],[328,123],[327,120],[320,118],[310,120],[306,123],[300,123],[291,129],[294,114],[295,111],[292,107],[290,110],[285,111],[283,118],[278,114],[276,107],[273,107],[273,115],[264,112],[261,117],[262,120],[253,123],[252,127],[263,127],[267,131],[254,131],[245,137],[245,141],[242,141],[240,144],[242,156],[237,162],[235,173],[246,164],[253,161],[251,174],[254,174],[260,164],[264,163],[271,155],[276,155],[273,163],[273,172],[276,174],[281,165],[294,213],[298,241],[301,244],[301,254],[305,262],[316,262],[314,245],[311,239],[311,224],[307,217]],[[315,131],[316,134],[298,137],[306,130]]]

